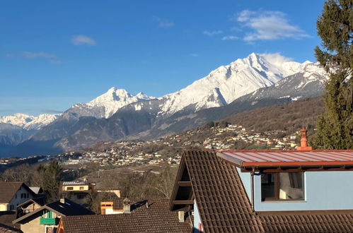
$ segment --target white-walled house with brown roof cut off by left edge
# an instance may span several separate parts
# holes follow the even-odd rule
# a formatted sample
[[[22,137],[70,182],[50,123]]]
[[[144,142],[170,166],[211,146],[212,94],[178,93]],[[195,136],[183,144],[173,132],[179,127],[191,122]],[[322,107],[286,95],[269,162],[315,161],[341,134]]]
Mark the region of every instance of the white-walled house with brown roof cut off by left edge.
[[[0,211],[16,210],[16,207],[35,193],[22,182],[0,182]]]

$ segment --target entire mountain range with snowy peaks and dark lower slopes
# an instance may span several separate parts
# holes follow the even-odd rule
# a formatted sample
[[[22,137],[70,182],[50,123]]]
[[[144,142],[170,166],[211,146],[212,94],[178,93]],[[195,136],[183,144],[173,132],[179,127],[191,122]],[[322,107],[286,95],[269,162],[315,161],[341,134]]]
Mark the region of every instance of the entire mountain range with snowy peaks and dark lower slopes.
[[[0,155],[60,153],[96,141],[158,138],[248,109],[322,95],[327,77],[318,63],[252,53],[163,97],[110,88],[59,116],[42,117],[42,124],[23,114],[1,117]],[[18,127],[12,141],[1,140],[11,134],[1,124]],[[22,136],[16,137],[18,133]]]

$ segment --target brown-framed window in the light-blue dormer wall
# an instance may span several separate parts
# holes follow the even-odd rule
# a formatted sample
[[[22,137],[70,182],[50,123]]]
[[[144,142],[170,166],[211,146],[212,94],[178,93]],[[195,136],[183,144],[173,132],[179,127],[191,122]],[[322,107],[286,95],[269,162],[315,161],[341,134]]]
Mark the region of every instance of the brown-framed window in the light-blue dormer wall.
[[[303,172],[261,174],[261,201],[303,200]]]

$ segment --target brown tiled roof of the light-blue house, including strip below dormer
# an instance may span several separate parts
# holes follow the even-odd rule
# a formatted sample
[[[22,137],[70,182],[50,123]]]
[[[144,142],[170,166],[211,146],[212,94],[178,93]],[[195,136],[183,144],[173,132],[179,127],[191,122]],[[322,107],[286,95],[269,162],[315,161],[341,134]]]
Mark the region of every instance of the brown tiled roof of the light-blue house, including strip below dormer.
[[[175,208],[173,198],[185,168],[204,232],[353,232],[351,213],[254,215],[236,167],[212,150],[183,153],[170,209]]]

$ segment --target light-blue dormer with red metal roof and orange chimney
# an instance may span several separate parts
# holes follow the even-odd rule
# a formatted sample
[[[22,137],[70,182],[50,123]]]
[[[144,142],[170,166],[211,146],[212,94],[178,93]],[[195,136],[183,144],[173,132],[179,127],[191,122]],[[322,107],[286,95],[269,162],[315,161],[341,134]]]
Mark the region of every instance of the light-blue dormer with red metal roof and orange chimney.
[[[256,213],[353,210],[353,150],[308,150],[305,139],[302,134],[299,150],[217,155],[236,165]]]

